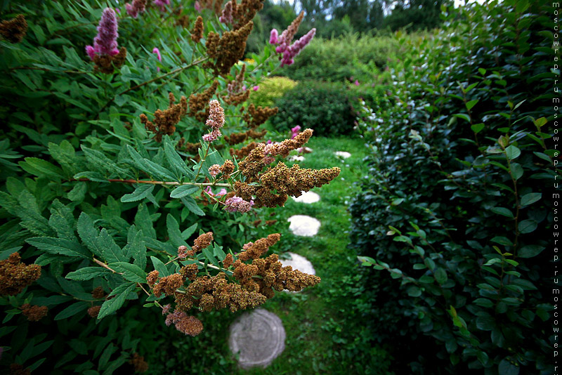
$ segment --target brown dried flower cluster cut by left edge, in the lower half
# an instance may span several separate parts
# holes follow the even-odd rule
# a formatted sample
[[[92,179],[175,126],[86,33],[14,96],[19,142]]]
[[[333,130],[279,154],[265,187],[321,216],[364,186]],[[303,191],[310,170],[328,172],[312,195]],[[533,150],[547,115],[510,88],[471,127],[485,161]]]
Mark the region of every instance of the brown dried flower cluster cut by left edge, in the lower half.
[[[0,296],[15,296],[41,276],[41,266],[21,263],[18,253],[0,261]]]

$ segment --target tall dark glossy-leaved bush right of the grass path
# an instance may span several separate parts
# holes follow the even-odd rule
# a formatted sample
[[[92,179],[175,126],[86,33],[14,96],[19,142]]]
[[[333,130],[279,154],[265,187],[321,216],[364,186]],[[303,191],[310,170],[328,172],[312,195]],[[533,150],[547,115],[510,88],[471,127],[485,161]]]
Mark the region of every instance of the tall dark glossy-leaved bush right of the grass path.
[[[377,338],[404,373],[550,374],[547,296],[554,150],[551,11],[527,1],[447,8],[400,43],[396,87],[365,109],[370,176],[351,246],[377,270]],[[400,341],[396,337],[401,336]]]

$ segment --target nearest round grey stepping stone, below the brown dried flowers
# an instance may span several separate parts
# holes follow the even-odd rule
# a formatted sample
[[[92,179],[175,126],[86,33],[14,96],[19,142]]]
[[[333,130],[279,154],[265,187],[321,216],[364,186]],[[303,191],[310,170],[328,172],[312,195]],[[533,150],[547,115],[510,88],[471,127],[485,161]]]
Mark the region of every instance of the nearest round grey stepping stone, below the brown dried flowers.
[[[256,308],[230,326],[228,346],[240,354],[242,369],[267,367],[285,349],[285,328],[277,315]]]

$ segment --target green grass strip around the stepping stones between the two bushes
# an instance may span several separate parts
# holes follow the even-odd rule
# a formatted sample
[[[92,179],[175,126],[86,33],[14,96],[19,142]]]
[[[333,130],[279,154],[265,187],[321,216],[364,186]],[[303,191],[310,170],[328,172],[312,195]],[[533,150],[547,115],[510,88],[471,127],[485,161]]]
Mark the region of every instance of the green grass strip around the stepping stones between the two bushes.
[[[360,265],[346,248],[347,204],[358,189],[353,183],[367,171],[363,158],[368,150],[359,138],[348,137],[313,137],[308,146],[313,153],[305,154],[299,162],[301,168],[339,166],[341,173],[329,185],[312,190],[320,195],[320,202],[303,204],[289,199],[285,209],[277,209],[277,223],[268,232],[281,233],[280,243],[273,248],[276,253],[282,256],[292,251],[305,256],[322,282],[301,293],[279,293],[262,306],[281,318],[287,333],[285,351],[266,369],[238,370],[237,374],[387,374],[390,357],[386,351],[366,345],[365,317],[354,301],[362,294],[356,283]],[[351,157],[336,157],[336,151],[351,152]],[[318,234],[293,235],[287,218],[297,214],[318,218],[322,223]],[[365,354],[377,363],[374,372],[361,363]]]

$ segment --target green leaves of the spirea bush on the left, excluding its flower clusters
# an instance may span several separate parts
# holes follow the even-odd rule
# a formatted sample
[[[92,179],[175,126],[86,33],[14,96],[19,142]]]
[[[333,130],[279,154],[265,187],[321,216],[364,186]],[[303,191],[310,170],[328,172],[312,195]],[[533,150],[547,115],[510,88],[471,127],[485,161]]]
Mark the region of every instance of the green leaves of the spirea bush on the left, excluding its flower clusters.
[[[232,372],[233,360],[208,349],[218,334],[209,328],[224,334],[229,313],[202,317],[209,332],[189,341],[164,324],[168,301],[150,291],[147,275],[158,270],[164,277],[189,263],[197,264],[198,276],[216,274],[230,249],[259,238],[251,222],[271,212],[228,213],[224,197],[211,199],[209,192],[234,190],[243,176],[238,169],[220,180],[209,173],[231,157],[223,138],[202,141],[209,131],[204,109],[203,118],[183,116],[166,132],[169,124],[157,121],[182,96],[200,94],[216,80],[211,98],[225,110],[221,131],[245,130],[245,113],[224,103],[240,65],[218,77],[204,66],[211,62],[205,39],[195,43],[189,31],[200,13],[176,2],[165,12],[150,6],[138,18],[121,6],[117,42],[126,47],[126,61],[112,73],[98,72],[84,46],[93,44],[104,7],[52,0],[2,6],[3,20],[21,13],[29,28],[20,43],[0,39],[0,259],[18,251],[25,265],[41,266],[41,277],[17,295],[0,296],[0,372],[15,363],[44,374],[132,374],[134,353],[148,359],[151,374],[172,374],[179,365]],[[210,10],[201,14],[205,34],[230,31]],[[253,56],[242,84],[261,84],[275,68],[273,50],[267,45]],[[162,141],[141,123],[141,114],[162,126]],[[189,250],[211,231],[214,243],[180,263],[178,246]],[[6,264],[3,283],[17,276],[4,274],[11,268]],[[46,306],[46,317],[28,320],[26,303]],[[178,346],[191,354],[177,355]],[[205,359],[190,364],[193,355]]]

